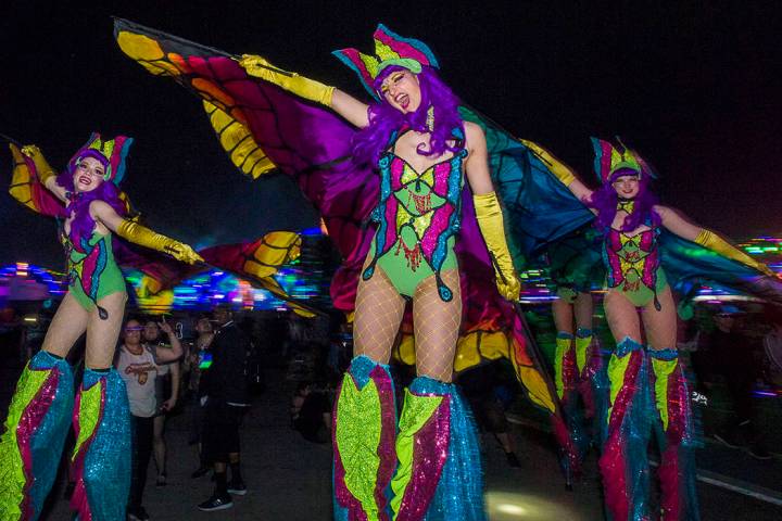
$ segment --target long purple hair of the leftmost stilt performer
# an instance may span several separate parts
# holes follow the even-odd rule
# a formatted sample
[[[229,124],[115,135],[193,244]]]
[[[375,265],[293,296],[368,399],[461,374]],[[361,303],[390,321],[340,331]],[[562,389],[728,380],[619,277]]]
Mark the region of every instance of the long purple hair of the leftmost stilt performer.
[[[103,161],[105,162],[105,160]],[[108,203],[121,216],[127,215],[127,208],[123,200],[119,199],[119,189],[112,181],[102,181],[98,188],[89,192],[76,192],[73,178],[77,163],[78,161],[71,161],[67,168],[56,177],[56,183],[71,193],[71,200],[65,208],[68,216],[74,216],[71,221],[68,238],[76,250],[84,251],[81,241],[84,239],[89,241],[96,227],[96,220],[89,213],[89,205],[92,201]]]

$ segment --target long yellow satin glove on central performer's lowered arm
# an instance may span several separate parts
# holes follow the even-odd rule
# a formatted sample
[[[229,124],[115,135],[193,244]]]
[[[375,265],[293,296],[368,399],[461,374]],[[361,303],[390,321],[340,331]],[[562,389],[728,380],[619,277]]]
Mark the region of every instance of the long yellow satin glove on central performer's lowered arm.
[[[510,302],[518,301],[521,283],[516,277],[510,252],[505,242],[502,208],[494,192],[472,195],[481,236],[494,264],[494,279],[500,294]]]

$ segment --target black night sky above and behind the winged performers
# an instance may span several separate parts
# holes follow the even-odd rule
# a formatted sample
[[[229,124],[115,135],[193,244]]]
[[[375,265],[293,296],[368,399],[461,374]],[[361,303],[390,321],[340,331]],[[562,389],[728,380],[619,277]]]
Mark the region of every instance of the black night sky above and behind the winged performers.
[[[426,41],[462,99],[551,149],[588,182],[589,137],[620,135],[661,175],[664,203],[736,239],[777,233],[779,4],[10,1],[0,18],[0,132],[37,143],[55,168],[92,130],[136,138],[123,188],[154,229],[197,247],[314,226],[315,213],[290,180],[253,182],[235,170],[200,102],[127,59],[110,15],[263,54],[360,96],[357,79],[330,51],[371,50],[383,22]],[[11,155],[0,155],[7,186]],[[4,190],[0,216],[0,264],[63,267],[53,221]]]

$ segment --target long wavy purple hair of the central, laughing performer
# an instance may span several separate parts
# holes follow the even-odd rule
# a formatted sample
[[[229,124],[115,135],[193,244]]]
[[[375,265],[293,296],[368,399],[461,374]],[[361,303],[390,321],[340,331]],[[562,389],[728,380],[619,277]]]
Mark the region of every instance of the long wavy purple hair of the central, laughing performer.
[[[407,71],[404,67],[392,65],[386,67],[373,87],[380,90],[383,79],[395,71]],[[356,134],[353,139],[353,157],[356,163],[376,164],[389,145],[394,130],[408,127],[419,132],[429,132],[427,127],[427,113],[432,106],[434,111],[434,128],[429,140],[430,149],[418,148],[421,155],[440,156],[445,152],[456,153],[459,144],[450,145],[454,140],[454,132],[464,140],[464,120],[458,113],[459,101],[453,91],[438,77],[434,69],[426,65],[416,75],[420,85],[421,102],[415,112],[403,114],[391,106],[381,96],[381,101],[369,105],[369,125]]]

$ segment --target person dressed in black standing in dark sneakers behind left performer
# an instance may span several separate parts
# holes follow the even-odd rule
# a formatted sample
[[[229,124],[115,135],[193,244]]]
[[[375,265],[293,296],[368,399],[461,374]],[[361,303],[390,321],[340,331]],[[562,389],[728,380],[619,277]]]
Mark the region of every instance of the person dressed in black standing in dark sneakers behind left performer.
[[[214,466],[215,492],[198,508],[223,510],[234,506],[231,494],[247,494],[239,458],[239,424],[249,406],[247,361],[250,340],[234,322],[230,307],[214,312],[218,326],[210,351],[212,366],[206,380],[203,450]],[[227,481],[230,465],[231,481]]]

